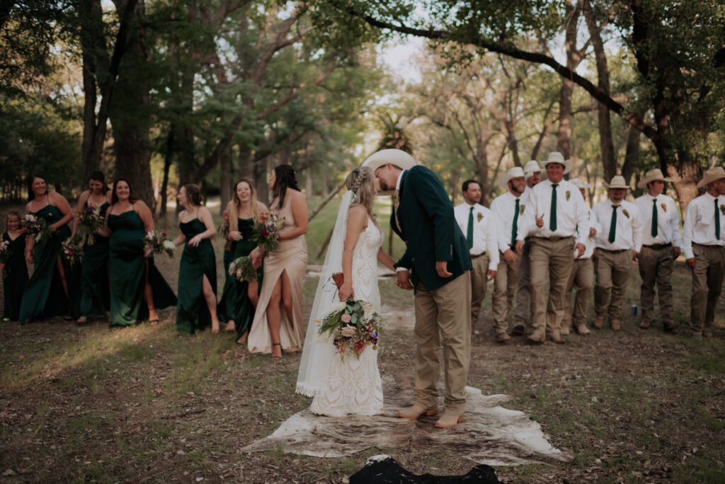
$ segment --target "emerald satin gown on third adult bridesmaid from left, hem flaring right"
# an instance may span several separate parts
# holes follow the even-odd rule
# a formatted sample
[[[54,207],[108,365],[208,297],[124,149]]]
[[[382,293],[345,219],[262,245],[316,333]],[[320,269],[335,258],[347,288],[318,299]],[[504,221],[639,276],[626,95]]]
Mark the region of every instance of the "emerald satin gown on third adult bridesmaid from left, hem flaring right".
[[[149,284],[154,291],[154,308],[176,304],[176,296],[154,265],[154,258],[144,257],[144,223],[134,210],[109,214],[109,281],[111,289],[111,327],[126,327],[148,319],[144,300],[146,261]]]

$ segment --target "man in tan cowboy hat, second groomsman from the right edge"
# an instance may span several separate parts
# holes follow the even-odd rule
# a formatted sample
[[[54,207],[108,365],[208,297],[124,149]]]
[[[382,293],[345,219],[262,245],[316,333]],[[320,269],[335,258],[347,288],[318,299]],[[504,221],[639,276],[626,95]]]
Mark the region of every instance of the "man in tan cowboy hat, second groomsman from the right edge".
[[[637,183],[637,188],[647,188],[648,193],[634,200],[642,217],[642,251],[638,264],[642,278],[639,290],[639,309],[642,310],[639,327],[642,329],[650,327],[655,315],[655,283],[663,329],[674,331],[677,327],[672,317],[672,265],[679,257],[682,238],[675,201],[663,193],[668,181],[672,179],[665,178],[659,169],[648,171]]]

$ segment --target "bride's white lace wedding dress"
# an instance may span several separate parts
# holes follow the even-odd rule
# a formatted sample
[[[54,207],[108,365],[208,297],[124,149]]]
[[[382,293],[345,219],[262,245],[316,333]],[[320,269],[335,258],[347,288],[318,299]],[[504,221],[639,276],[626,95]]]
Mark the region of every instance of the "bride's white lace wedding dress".
[[[360,233],[352,252],[352,291],[355,299],[368,301],[380,311],[378,289],[378,250],[383,235],[372,220]],[[329,343],[331,345],[331,343]],[[327,383],[315,392],[310,410],[329,417],[347,414],[375,415],[383,409],[383,385],[378,372],[378,351],[366,346],[360,359],[348,354],[341,360],[335,354],[330,362]]]

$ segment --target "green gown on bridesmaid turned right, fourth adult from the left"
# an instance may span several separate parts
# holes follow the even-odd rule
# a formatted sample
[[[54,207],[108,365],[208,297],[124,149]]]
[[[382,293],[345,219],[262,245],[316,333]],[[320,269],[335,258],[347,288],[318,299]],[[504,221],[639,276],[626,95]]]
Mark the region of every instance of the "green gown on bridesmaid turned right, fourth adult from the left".
[[[179,262],[178,304],[176,304],[176,329],[182,333],[194,334],[212,324],[207,301],[204,299],[202,281],[207,276],[212,291],[217,293],[217,261],[214,247],[208,238],[202,239],[199,246],[190,246],[188,241],[207,230],[204,223],[195,218],[179,224],[181,233],[186,235],[181,262]]]

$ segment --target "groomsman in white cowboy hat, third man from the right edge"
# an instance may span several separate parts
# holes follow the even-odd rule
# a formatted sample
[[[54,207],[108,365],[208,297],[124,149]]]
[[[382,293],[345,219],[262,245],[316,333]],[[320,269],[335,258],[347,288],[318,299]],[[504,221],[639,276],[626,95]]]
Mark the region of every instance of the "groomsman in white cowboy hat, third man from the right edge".
[[[629,188],[624,177],[616,175],[610,183],[609,199],[592,209],[600,228],[594,269],[597,283],[594,290],[594,325],[600,329],[607,317],[615,331],[621,330],[622,304],[632,262],[642,250],[642,222],[637,205],[624,199]],[[611,296],[610,296],[611,293]]]

